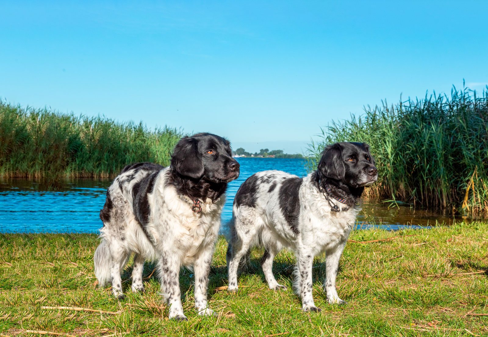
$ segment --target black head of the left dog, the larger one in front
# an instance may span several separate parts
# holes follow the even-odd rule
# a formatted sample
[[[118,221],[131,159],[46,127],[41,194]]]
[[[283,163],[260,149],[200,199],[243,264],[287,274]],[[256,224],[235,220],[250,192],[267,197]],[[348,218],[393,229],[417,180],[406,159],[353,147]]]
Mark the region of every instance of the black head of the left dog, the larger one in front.
[[[178,174],[215,183],[237,179],[239,167],[230,142],[209,133],[183,137],[171,156],[171,169]]]

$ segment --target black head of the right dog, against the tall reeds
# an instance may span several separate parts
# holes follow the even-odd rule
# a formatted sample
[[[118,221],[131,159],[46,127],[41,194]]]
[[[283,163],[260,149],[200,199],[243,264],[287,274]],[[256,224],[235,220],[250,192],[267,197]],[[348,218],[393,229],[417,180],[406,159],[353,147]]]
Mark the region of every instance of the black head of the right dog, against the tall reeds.
[[[337,180],[352,188],[370,186],[378,179],[369,145],[355,142],[328,145],[317,173],[321,179]]]

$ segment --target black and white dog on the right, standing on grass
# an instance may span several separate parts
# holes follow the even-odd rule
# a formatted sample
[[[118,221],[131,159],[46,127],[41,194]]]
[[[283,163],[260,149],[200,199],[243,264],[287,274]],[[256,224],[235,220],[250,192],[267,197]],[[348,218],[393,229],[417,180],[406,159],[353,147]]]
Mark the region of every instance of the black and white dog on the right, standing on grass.
[[[282,171],[249,177],[237,191],[229,223],[229,291],[236,291],[240,260],[252,246],[264,246],[261,260],[270,289],[286,289],[271,271],[283,248],[297,258],[295,288],[304,311],[320,311],[312,297],[312,261],[325,252],[324,288],[329,303],[337,295],[336,275],[344,246],[360,208],[365,186],[378,178],[365,143],[335,143],[325,148],[317,171],[298,178]]]

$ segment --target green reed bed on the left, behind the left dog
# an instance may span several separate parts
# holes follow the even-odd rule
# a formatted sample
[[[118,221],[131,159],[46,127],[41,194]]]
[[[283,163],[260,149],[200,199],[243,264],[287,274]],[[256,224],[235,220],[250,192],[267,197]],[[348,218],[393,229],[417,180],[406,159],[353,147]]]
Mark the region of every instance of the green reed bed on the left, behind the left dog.
[[[181,130],[121,123],[103,117],[59,114],[0,101],[0,177],[108,178],[127,164],[168,165]]]

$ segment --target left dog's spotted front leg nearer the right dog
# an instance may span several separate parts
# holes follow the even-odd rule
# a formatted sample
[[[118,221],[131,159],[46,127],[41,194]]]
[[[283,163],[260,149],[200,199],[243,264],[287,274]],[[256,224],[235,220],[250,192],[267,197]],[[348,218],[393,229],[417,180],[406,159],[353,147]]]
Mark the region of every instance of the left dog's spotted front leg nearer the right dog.
[[[200,256],[195,260],[193,271],[195,272],[195,308],[198,315],[213,316],[214,311],[208,307],[207,303],[207,283],[210,264],[212,263],[213,249],[204,249]]]

